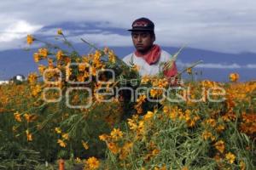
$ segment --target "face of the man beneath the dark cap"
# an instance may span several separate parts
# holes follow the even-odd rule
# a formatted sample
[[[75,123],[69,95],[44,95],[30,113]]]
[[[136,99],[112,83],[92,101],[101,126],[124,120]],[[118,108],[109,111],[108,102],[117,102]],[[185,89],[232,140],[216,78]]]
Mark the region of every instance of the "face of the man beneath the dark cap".
[[[154,36],[151,36],[148,31],[133,31],[131,37],[134,47],[140,53],[147,53],[154,42]]]

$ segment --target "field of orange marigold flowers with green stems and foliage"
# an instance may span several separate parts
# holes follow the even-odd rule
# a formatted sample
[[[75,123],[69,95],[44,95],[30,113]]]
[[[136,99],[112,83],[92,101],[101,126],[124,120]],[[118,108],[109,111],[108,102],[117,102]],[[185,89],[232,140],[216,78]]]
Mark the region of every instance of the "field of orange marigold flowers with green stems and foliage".
[[[67,47],[29,35],[44,42],[38,72],[0,85],[0,169],[256,169],[256,82],[177,83],[191,65],[166,96],[162,74],[140,77],[109,48],[82,39],[93,50],[79,54],[57,37]]]

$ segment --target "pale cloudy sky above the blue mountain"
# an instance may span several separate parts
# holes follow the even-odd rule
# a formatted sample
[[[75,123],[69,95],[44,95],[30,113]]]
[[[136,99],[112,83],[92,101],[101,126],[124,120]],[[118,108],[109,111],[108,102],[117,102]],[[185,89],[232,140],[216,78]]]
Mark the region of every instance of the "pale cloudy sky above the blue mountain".
[[[162,46],[256,53],[255,0],[1,0],[0,50],[24,47],[27,34],[54,35],[50,26],[61,23],[126,30],[142,16],[154,21]],[[101,45],[131,46],[128,32],[72,31],[79,30],[67,30],[73,41],[82,36]]]

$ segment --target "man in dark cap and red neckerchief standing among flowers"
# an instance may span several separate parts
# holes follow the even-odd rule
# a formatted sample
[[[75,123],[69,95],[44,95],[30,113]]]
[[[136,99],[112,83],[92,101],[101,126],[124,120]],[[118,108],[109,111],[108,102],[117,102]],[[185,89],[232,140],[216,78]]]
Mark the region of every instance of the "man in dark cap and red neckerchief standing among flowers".
[[[163,65],[172,57],[159,45],[154,44],[154,23],[147,18],[140,18],[132,23],[131,38],[136,51],[125,56],[123,61],[127,65],[137,65],[141,76],[153,76],[163,71]],[[177,66],[175,61],[171,68],[163,71],[167,78],[177,75]]]

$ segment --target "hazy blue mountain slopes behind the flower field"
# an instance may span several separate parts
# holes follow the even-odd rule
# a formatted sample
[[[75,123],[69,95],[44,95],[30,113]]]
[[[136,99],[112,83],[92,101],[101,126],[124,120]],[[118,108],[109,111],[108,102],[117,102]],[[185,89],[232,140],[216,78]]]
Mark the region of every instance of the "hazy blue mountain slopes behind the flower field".
[[[88,52],[88,47],[78,43],[74,45],[83,54]],[[131,53],[133,47],[110,47],[119,58]],[[170,54],[175,54],[179,48],[163,47]],[[36,49],[26,51],[12,49],[0,51],[0,80],[9,79],[17,74],[27,75],[29,72],[38,71],[37,64],[33,61],[32,54]],[[86,54],[86,53],[85,53]],[[177,68],[182,71],[186,66],[195,61],[202,60],[202,64],[194,69],[198,72],[197,79],[210,79],[212,81],[227,82],[229,74],[237,72],[241,81],[255,80],[256,78],[256,54],[224,54],[196,48],[184,48],[177,57]],[[183,77],[187,77],[183,74]]]

